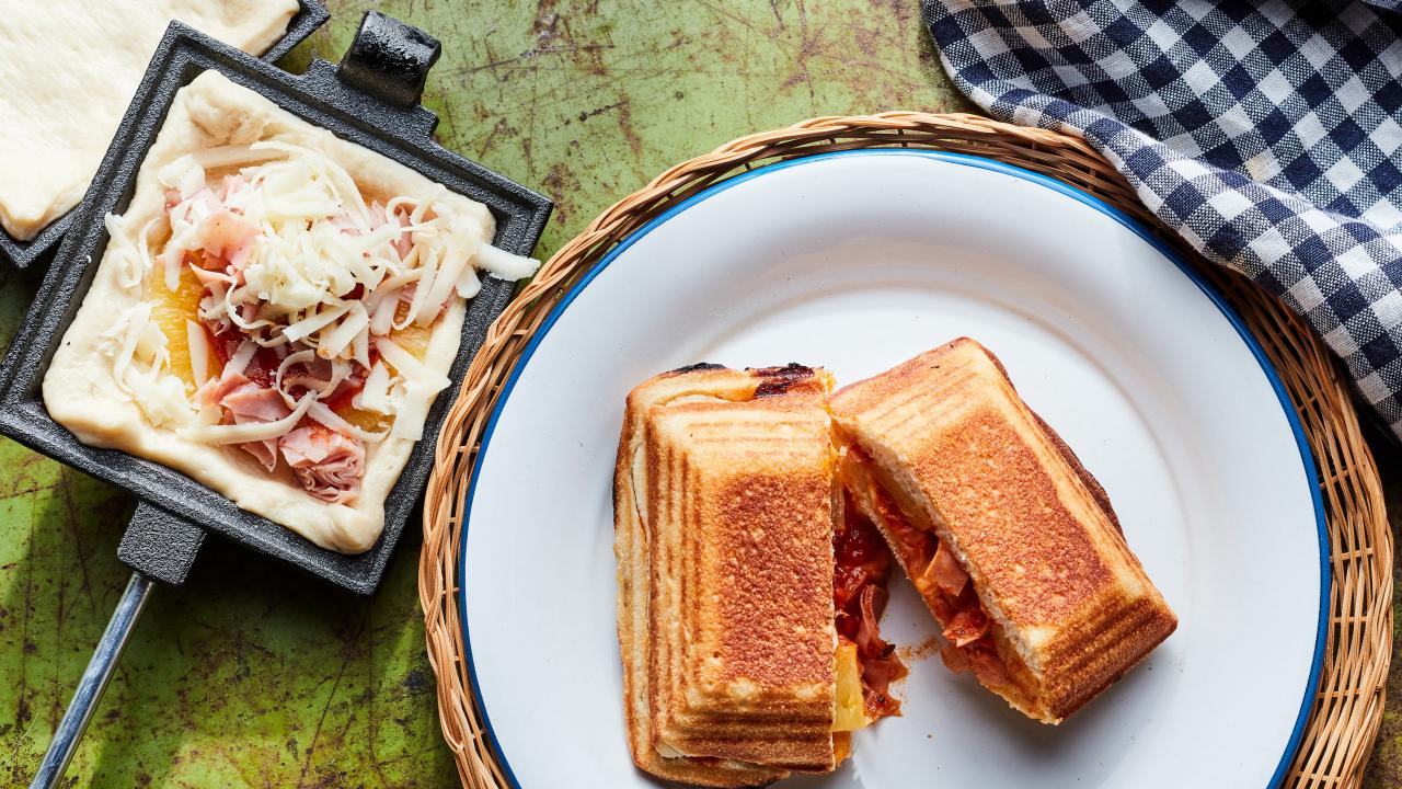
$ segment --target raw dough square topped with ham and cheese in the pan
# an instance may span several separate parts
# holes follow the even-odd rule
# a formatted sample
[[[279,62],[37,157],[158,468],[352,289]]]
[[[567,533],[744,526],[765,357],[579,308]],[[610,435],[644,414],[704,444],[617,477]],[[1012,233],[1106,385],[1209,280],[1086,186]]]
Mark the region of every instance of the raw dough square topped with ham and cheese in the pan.
[[[182,87],[43,380],[53,420],[359,553],[449,386],[485,205],[205,72]]]

